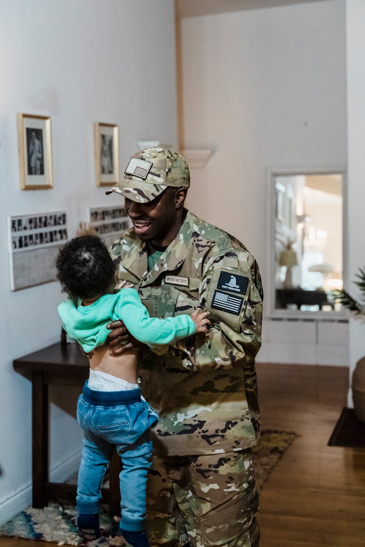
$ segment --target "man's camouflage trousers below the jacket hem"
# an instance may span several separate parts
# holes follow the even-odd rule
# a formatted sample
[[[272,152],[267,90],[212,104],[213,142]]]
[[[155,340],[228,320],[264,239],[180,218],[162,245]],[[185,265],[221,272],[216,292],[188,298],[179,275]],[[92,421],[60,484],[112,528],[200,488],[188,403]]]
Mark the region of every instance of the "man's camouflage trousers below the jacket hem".
[[[250,449],[154,458],[147,497],[151,547],[257,547],[257,511]]]

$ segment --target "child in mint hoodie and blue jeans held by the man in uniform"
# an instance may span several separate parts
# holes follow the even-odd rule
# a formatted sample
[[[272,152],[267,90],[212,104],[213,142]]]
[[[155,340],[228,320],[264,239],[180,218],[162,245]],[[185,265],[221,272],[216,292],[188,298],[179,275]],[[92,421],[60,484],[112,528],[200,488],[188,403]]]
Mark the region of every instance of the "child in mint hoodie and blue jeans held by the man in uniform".
[[[150,317],[135,289],[113,293],[115,266],[97,236],[75,237],[60,248],[57,278],[68,298],[59,314],[69,337],[91,353],[89,380],[77,403],[84,430],[77,486],[78,527],[86,539],[100,537],[101,485],[114,446],[123,463],[120,473],[120,530],[133,547],[148,547],[145,531],[146,480],[152,441],[148,431],[157,412],[141,397],[138,351],[113,357],[105,346],[111,321],[149,347],[171,344],[194,333],[207,333],[208,312],[159,319]]]

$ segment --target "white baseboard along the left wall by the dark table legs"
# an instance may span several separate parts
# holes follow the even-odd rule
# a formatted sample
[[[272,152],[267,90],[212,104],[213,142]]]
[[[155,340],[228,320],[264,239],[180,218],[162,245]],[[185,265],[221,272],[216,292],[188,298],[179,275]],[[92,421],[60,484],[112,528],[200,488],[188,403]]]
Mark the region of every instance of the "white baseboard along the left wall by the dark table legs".
[[[80,463],[81,452],[77,450],[67,459],[56,463],[50,470],[50,480],[61,482],[76,473]],[[32,503],[32,482],[27,482],[15,492],[0,499],[0,526]]]

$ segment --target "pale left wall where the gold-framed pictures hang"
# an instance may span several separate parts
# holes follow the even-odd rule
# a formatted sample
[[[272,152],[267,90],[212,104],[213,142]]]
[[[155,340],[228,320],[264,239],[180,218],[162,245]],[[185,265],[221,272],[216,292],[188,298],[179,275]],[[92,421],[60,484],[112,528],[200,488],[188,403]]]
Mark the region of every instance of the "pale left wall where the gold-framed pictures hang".
[[[31,501],[31,383],[13,359],[60,337],[56,282],[11,292],[6,217],[66,210],[69,236],[96,187],[93,123],[119,126],[120,167],[138,140],[177,146],[173,0],[2,0],[0,4],[0,524]],[[54,188],[20,190],[17,113],[51,117]],[[77,468],[78,389],[53,389],[51,476]]]

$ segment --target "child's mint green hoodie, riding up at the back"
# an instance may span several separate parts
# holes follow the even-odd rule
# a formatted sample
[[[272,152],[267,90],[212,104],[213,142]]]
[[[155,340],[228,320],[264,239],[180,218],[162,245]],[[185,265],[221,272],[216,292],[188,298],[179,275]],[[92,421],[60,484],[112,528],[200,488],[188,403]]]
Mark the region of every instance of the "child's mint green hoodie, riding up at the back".
[[[82,306],[81,302],[75,304],[66,299],[59,305],[58,312],[68,336],[77,340],[86,353],[104,344],[109,334],[106,325],[118,319],[132,336],[149,347],[171,344],[196,330],[193,319],[185,314],[166,319],[150,317],[135,289],[104,294],[90,306]]]

